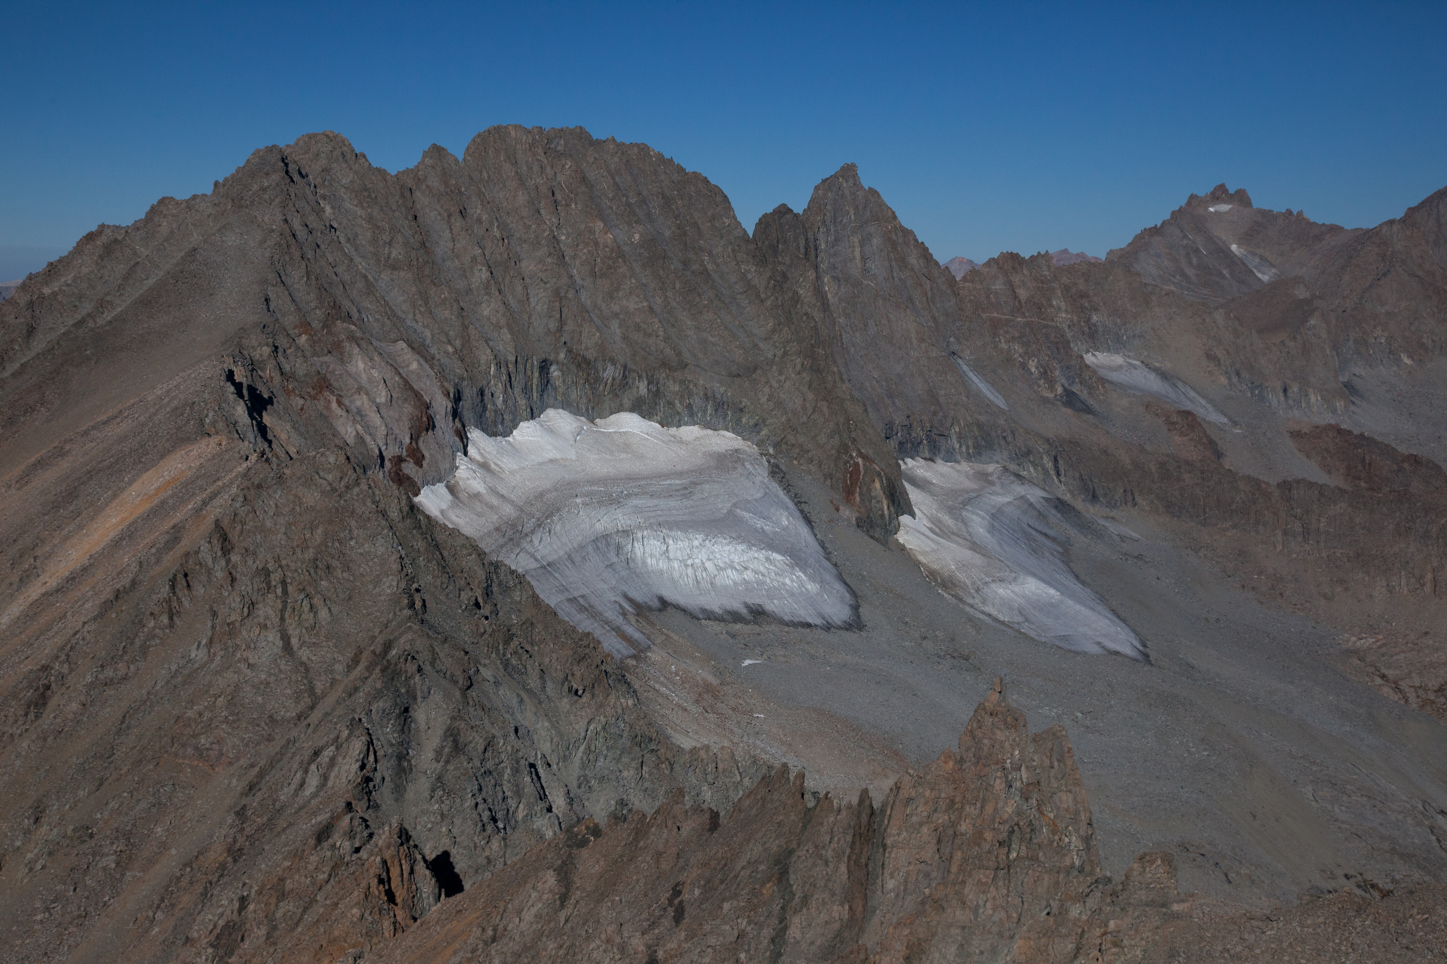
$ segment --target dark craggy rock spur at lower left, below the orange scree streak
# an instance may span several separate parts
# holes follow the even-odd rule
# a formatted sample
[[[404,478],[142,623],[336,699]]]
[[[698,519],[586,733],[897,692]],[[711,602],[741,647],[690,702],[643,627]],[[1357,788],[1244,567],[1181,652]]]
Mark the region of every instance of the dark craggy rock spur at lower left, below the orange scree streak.
[[[7,679],[14,960],[337,960],[579,819],[764,772],[669,743],[593,637],[340,452],[249,462],[171,565]]]

